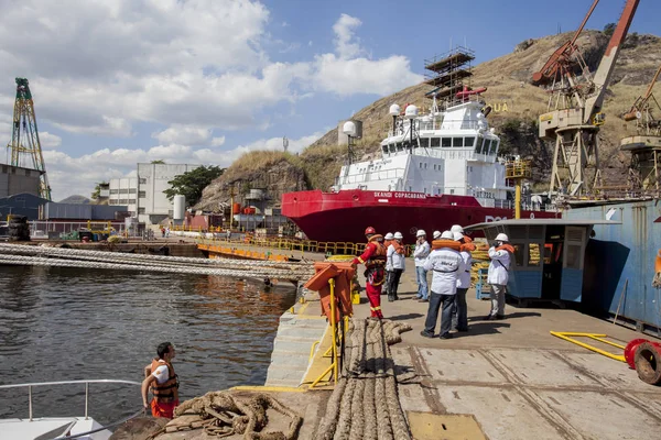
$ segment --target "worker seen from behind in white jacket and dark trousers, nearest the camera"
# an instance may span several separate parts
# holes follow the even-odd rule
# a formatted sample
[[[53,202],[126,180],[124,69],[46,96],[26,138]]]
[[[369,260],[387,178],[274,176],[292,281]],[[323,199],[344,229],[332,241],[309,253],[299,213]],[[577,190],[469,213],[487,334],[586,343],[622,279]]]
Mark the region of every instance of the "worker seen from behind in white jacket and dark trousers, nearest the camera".
[[[466,264],[462,255],[455,251],[459,246],[455,246],[454,234],[451,231],[443,232],[440,241],[442,248],[434,249],[424,263],[424,268],[434,271],[434,275],[432,276],[432,293],[430,294],[430,307],[424,321],[424,330],[420,334],[425,338],[434,337],[434,330],[438,320],[438,309],[443,304],[438,338],[451,339],[452,334],[449,330],[452,328],[452,310],[457,293],[457,278],[466,270]],[[443,241],[448,243],[447,246],[443,245]],[[436,248],[435,244],[434,248]]]

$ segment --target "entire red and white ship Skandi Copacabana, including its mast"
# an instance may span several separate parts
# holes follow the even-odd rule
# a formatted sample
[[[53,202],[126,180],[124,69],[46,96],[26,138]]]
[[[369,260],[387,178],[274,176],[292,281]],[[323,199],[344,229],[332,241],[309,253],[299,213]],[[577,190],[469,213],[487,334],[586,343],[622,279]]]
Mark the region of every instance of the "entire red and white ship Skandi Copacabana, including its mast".
[[[435,64],[440,69],[456,66],[457,56],[465,59],[470,54],[456,52]],[[441,85],[430,94],[429,114],[418,116],[415,106],[407,106],[401,114],[399,106],[391,106],[393,125],[381,142],[380,158],[349,161],[328,193],[284,194],[282,215],[310,240],[324,242],[362,242],[365,228],[372,226],[383,234],[400,231],[412,243],[419,229],[431,235],[452,224],[513,218],[508,193],[514,188],[506,182],[505,161],[498,157],[500,140],[487,122],[481,98],[486,89],[457,87],[453,75],[456,70],[447,69],[427,81]],[[444,86],[449,94],[443,92]],[[443,95],[446,101],[440,108],[436,97]],[[349,135],[351,124],[345,124]],[[541,204],[535,208],[523,209],[521,217],[556,217],[555,211],[540,210]]]

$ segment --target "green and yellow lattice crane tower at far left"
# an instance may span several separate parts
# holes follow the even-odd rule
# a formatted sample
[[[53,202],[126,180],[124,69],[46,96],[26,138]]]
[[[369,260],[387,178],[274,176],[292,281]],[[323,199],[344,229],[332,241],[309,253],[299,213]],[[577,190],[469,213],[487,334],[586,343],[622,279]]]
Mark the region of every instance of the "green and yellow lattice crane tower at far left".
[[[26,78],[17,78],[13,131],[11,143],[7,147],[11,148],[12,166],[31,166],[33,169],[41,172],[39,196],[51,200],[51,186],[48,185],[44,155],[39,140],[36,118],[34,117],[34,102]]]

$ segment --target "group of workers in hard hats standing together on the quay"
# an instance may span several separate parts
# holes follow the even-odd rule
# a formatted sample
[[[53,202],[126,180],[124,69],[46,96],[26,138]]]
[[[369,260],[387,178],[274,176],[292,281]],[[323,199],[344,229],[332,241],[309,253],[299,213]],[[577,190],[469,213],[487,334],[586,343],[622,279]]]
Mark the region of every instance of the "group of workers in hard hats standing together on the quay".
[[[470,287],[472,252],[476,246],[464,234],[464,229],[455,224],[448,231],[434,231],[432,244],[426,232],[418,231],[413,258],[418,280],[416,299],[429,302],[423,337],[435,337],[435,328],[441,310],[438,338],[451,339],[452,330],[468,331],[466,292]],[[380,235],[369,227],[365,230],[367,245],[365,252],[354,258],[354,264],[365,264],[366,293],[371,318],[382,319],[381,293],[388,300],[398,300],[398,287],[405,267],[405,252],[401,232]],[[499,233],[489,248],[488,283],[491,286],[491,309],[487,320],[505,318],[505,293],[511,255],[514,249],[509,238]],[[427,286],[427,273],[432,271],[432,285]],[[441,309],[441,306],[442,309]]]

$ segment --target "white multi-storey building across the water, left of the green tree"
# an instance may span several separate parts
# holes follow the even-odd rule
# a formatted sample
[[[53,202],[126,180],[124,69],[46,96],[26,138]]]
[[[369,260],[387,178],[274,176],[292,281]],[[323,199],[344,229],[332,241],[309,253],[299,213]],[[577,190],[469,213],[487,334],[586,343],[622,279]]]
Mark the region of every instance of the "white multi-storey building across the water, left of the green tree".
[[[138,177],[110,179],[110,205],[126,205],[131,217],[145,226],[173,216],[173,202],[163,194],[170,180],[201,165],[138,164]]]

